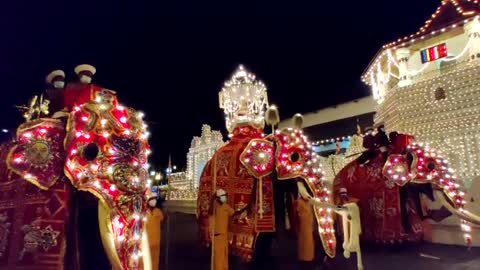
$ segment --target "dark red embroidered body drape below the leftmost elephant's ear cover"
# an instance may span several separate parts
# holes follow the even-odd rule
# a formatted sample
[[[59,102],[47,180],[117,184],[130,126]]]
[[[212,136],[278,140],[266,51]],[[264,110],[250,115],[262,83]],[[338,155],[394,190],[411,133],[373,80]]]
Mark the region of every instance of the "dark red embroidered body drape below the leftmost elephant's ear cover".
[[[0,269],[64,269],[70,184],[61,178],[40,190],[5,163],[0,146]]]

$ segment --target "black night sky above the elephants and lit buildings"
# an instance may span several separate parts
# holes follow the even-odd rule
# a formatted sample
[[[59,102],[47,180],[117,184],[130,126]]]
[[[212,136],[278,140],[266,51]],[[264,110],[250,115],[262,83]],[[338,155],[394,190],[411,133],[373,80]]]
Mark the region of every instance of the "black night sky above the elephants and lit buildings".
[[[61,68],[146,113],[154,162],[185,163],[203,123],[225,131],[218,92],[240,63],[262,79],[282,118],[369,94],[360,75],[384,44],[416,32],[440,0],[2,1],[2,128],[12,107]],[[156,124],[155,124],[156,123]]]

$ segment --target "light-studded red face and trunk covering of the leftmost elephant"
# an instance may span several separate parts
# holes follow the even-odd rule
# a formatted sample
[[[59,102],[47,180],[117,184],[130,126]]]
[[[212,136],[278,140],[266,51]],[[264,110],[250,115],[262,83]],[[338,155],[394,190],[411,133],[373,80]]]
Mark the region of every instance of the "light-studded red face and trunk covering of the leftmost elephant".
[[[65,170],[76,188],[87,190],[111,211],[115,249],[125,269],[137,269],[149,188],[148,131],[144,114],[96,100],[70,117]]]

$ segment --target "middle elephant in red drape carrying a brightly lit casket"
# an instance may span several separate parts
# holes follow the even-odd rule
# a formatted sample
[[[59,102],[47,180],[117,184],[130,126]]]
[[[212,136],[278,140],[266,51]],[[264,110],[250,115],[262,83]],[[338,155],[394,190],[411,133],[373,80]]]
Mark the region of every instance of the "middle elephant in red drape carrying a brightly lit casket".
[[[215,191],[221,188],[227,193],[227,203],[246,213],[230,222],[230,253],[247,262],[268,256],[272,235],[284,224],[285,209],[294,223],[296,213],[288,195],[299,194],[313,205],[318,225],[315,231],[325,253],[334,257],[337,242],[332,213],[348,210],[330,203],[331,194],[324,186],[320,160],[300,124],[264,134],[267,106],[265,86],[243,67],[225,83],[220,93],[220,107],[225,111],[231,140],[217,150],[200,178],[197,201],[200,238],[204,245],[210,245],[210,228],[214,224],[209,220],[209,209]],[[267,123],[279,122],[276,108],[272,107],[266,114]],[[359,233],[352,230],[352,237],[347,238],[358,238]],[[347,256],[350,251],[360,251],[359,246],[352,243],[358,244],[358,241],[344,244]],[[362,267],[361,261],[359,267]]]

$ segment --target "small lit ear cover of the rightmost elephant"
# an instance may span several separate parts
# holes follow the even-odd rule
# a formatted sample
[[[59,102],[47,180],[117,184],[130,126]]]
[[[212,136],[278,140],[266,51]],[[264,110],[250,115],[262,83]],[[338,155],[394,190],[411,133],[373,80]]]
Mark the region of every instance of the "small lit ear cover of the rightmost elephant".
[[[406,155],[390,155],[385,162],[382,173],[388,179],[387,183],[391,183],[392,187],[393,184],[403,187],[412,180]]]

